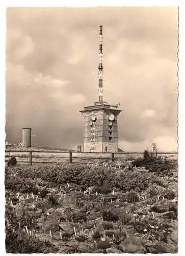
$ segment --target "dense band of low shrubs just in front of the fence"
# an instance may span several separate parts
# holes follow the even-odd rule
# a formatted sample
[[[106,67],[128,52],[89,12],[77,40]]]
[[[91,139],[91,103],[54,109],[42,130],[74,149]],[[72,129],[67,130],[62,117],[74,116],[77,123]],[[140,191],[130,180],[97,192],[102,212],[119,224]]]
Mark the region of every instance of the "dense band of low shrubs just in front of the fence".
[[[116,171],[107,167],[88,167],[84,164],[59,164],[22,167],[16,170],[16,179],[6,171],[5,188],[22,193],[38,194],[38,186],[59,187],[62,184],[76,184],[88,188],[95,186],[98,193],[110,193],[113,187],[126,191],[141,192],[150,183],[164,185],[162,178],[150,173],[139,173],[133,170]],[[42,191],[42,190],[40,190]],[[44,194],[44,193],[43,193]],[[43,195],[44,196],[44,195]]]

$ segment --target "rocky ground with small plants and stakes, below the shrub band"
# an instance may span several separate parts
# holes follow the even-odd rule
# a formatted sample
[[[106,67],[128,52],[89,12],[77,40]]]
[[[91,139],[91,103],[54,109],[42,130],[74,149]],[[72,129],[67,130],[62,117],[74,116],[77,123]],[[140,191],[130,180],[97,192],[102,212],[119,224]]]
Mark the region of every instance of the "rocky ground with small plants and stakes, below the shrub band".
[[[17,179],[16,168],[7,169],[6,179]],[[29,252],[38,252],[38,247],[39,252],[57,253],[175,253],[176,170],[171,177],[157,179],[158,184],[142,191],[112,187],[109,193],[70,182],[43,186],[39,177],[27,193],[8,187],[6,250],[28,253],[29,248]]]

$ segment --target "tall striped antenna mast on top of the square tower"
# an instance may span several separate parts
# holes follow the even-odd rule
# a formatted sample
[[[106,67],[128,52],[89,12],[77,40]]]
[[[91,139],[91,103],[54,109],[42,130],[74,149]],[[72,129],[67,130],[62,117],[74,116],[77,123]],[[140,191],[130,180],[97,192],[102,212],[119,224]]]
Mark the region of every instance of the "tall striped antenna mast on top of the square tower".
[[[102,26],[99,26],[99,66],[98,66],[98,96],[99,102],[103,101],[103,65],[102,65]]]

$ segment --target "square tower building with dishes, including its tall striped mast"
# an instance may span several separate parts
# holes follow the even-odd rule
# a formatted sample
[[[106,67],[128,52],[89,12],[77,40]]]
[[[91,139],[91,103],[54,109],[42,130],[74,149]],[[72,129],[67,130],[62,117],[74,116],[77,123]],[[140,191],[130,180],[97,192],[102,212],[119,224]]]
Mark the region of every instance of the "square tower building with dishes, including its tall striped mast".
[[[84,116],[84,152],[118,152],[119,104],[103,101],[102,26],[99,27],[98,101],[80,111]]]

